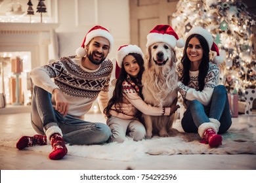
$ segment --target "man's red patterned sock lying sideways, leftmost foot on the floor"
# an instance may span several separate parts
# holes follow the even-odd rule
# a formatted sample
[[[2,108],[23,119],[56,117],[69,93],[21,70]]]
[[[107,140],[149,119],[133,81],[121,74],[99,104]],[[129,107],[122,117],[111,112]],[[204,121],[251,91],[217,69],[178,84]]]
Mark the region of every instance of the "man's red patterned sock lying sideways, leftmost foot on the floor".
[[[22,136],[16,143],[16,148],[22,150],[26,147],[32,147],[35,145],[43,146],[47,144],[47,138],[43,135],[34,135],[33,137]]]

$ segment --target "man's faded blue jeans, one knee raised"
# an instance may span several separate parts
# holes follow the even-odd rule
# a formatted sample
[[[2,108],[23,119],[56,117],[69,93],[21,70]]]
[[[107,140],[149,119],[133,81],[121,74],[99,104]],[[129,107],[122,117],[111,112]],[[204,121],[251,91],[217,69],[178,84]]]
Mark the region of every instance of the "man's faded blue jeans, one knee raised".
[[[51,97],[51,93],[34,86],[31,119],[37,133],[45,135],[49,127],[57,125],[62,130],[64,141],[70,144],[101,144],[108,141],[111,135],[108,125],[63,116],[53,108]]]

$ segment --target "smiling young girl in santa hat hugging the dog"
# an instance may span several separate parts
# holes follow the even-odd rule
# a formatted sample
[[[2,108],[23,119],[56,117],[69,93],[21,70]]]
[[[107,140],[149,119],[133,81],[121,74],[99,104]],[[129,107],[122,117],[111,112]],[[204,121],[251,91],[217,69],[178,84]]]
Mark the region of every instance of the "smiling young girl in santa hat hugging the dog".
[[[121,70],[113,97],[104,110],[108,117],[107,124],[112,131],[110,141],[123,142],[126,136],[133,138],[134,141],[140,141],[146,135],[140,112],[152,116],[169,116],[179,106],[173,104],[171,107],[161,108],[144,103],[141,93],[144,61],[142,51],[137,45],[121,46],[116,59]]]

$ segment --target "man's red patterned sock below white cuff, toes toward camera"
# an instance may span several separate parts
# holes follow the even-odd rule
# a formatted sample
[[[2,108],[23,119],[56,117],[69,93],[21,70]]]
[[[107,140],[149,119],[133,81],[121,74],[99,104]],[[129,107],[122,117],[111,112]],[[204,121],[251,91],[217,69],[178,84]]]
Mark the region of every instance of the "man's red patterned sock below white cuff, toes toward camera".
[[[50,159],[61,159],[67,153],[68,149],[66,148],[65,142],[60,135],[60,133],[53,133],[50,137],[51,145],[53,146],[52,152],[49,154]]]

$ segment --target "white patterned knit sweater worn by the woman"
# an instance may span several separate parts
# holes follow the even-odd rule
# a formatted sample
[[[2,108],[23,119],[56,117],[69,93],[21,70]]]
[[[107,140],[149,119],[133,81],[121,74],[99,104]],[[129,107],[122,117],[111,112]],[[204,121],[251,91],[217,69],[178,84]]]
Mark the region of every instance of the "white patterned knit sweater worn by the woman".
[[[179,78],[181,78],[183,70],[182,63],[178,64],[177,69]],[[179,92],[181,93],[185,104],[186,101],[197,99],[203,105],[208,105],[211,101],[211,95],[213,94],[215,86],[219,84],[219,67],[214,63],[209,63],[209,70],[205,77],[205,86],[202,91],[198,91],[198,74],[199,71],[189,71],[190,81],[188,86],[182,84],[181,81],[178,82]]]

